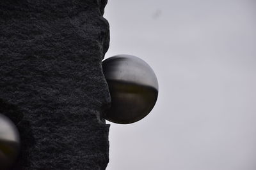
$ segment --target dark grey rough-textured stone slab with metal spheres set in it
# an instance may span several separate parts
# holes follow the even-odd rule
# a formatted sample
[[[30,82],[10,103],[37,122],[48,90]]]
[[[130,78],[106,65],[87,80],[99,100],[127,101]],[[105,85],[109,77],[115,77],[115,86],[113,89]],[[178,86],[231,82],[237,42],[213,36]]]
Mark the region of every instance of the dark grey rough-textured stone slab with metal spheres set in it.
[[[0,113],[21,136],[13,169],[106,168],[106,3],[0,1]]]

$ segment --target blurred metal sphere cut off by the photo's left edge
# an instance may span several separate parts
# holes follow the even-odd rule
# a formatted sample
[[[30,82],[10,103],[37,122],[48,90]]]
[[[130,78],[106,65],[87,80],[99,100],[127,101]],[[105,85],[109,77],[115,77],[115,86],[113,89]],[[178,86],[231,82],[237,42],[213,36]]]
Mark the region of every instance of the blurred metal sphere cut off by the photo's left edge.
[[[19,132],[13,122],[0,114],[0,169],[10,169],[20,150]]]

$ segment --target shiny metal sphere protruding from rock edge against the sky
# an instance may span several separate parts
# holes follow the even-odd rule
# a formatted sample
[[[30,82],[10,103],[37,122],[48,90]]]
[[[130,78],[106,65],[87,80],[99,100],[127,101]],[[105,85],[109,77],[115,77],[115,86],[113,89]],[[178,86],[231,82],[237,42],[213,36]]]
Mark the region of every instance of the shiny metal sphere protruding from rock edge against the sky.
[[[132,55],[116,55],[102,62],[108,82],[111,108],[104,116],[117,124],[131,124],[146,117],[158,95],[156,74],[150,66]]]

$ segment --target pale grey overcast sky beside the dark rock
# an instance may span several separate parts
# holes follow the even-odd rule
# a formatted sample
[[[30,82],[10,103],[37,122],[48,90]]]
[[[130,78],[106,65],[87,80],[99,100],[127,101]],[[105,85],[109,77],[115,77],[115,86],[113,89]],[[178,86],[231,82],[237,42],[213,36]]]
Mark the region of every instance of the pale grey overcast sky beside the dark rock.
[[[111,124],[107,170],[256,169],[256,1],[109,0],[106,57],[148,62],[159,98]]]

